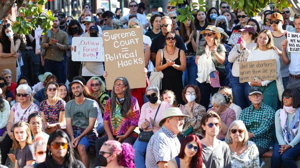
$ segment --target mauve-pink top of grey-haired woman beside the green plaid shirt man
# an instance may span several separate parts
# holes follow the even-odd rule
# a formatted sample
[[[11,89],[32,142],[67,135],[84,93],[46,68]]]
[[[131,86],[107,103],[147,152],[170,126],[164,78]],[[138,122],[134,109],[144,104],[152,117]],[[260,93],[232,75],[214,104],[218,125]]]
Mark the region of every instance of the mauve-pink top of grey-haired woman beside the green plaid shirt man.
[[[212,108],[208,109],[208,111],[212,110]],[[219,135],[217,135],[217,139],[225,138],[227,129],[229,128],[230,124],[236,119],[235,112],[233,109],[228,108],[226,111],[220,113],[220,118],[226,124],[226,131],[220,130]]]

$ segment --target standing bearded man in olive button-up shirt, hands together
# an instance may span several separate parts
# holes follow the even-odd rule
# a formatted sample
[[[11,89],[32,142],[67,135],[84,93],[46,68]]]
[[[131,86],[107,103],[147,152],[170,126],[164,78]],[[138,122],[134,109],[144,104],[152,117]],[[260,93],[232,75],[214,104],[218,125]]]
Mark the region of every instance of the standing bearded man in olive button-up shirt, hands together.
[[[46,49],[44,71],[57,77],[58,83],[63,83],[63,52],[68,50],[68,34],[59,29],[59,16],[54,16],[52,29],[48,30],[42,39],[42,48]],[[51,33],[48,38],[48,33]]]

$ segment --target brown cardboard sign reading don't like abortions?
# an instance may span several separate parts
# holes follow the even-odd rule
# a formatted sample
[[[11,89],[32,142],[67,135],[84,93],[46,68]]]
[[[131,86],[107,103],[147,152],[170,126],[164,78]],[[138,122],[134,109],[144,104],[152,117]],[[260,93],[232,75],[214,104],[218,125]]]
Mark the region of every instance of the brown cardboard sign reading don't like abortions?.
[[[254,77],[263,81],[276,80],[276,60],[241,62],[240,83],[252,82]]]

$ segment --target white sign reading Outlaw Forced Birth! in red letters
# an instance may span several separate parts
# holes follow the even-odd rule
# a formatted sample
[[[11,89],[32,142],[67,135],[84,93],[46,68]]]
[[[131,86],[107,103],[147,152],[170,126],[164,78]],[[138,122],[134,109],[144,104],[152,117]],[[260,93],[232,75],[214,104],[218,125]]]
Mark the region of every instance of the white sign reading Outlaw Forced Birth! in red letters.
[[[104,62],[101,37],[73,37],[72,61]]]

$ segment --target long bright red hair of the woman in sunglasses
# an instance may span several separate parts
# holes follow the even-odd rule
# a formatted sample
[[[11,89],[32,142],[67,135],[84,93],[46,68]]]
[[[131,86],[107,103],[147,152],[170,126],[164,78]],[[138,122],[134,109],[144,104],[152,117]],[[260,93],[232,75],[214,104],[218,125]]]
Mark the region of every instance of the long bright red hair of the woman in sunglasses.
[[[185,149],[187,143],[192,142],[192,141],[197,142],[198,151],[197,151],[196,155],[192,157],[189,167],[190,168],[202,168],[202,145],[201,145],[200,139],[197,137],[197,135],[188,135],[187,137],[185,137],[182,140],[178,157],[182,158],[182,159],[184,158],[184,156],[185,156],[184,149]]]

